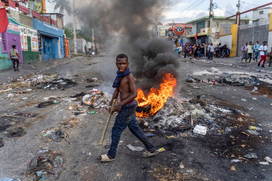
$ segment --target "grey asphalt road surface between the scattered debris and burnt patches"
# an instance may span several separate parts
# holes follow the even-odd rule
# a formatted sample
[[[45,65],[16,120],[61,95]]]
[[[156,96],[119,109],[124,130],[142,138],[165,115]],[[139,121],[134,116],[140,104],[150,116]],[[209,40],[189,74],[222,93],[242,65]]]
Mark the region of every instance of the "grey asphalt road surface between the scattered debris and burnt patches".
[[[173,97],[177,99],[194,98],[197,95],[206,95],[203,99],[206,102],[228,105],[234,109],[243,110],[254,118],[254,123],[263,124],[263,131],[259,136],[263,143],[259,143],[253,152],[258,158],[249,162],[231,163],[231,154],[220,153],[213,155],[215,145],[209,143],[208,135],[196,135],[192,130],[181,132],[188,134],[188,137],[179,137],[181,133],[175,133],[174,138],[169,138],[163,134],[155,133],[155,137],[149,137],[151,142],[157,148],[163,147],[166,151],[159,153],[155,157],[141,158],[142,152],[133,152],[126,147],[131,144],[133,146],[143,146],[141,142],[134,137],[127,128],[121,135],[121,141],[124,141],[117,149],[117,160],[108,163],[99,163],[96,157],[106,154],[108,149],[104,145],[111,142],[110,133],[114,123],[115,115],[112,116],[105,137],[103,146],[98,146],[104,124],[108,113],[105,109],[96,109],[96,114],[87,116],[74,116],[72,110],[68,107],[72,103],[59,103],[50,105],[45,108],[36,108],[38,102],[43,101],[49,96],[69,97],[80,92],[87,92],[92,88],[86,88],[88,85],[99,85],[96,87],[100,91],[104,91],[105,95],[113,93],[114,89],[111,83],[115,78],[116,66],[115,57],[76,57],[70,59],[53,60],[42,63],[33,63],[31,65],[23,65],[20,72],[13,72],[12,69],[0,71],[0,82],[8,79],[20,77],[23,75],[39,72],[39,74],[63,74],[65,78],[71,78],[78,82],[76,86],[67,88],[66,90],[43,90],[39,89],[35,92],[22,94],[15,97],[7,98],[6,93],[0,94],[0,112],[1,114],[18,110],[23,113],[36,113],[36,117],[20,117],[20,118],[0,118],[2,122],[12,123],[10,128],[23,127],[26,134],[18,138],[6,137],[6,132],[0,132],[3,138],[4,146],[0,148],[0,179],[4,177],[19,178],[21,180],[36,180],[34,176],[25,177],[24,172],[28,170],[27,162],[29,162],[41,147],[47,145],[50,150],[57,150],[57,154],[61,155],[66,164],[65,170],[61,173],[59,180],[170,180],[171,178],[179,180],[197,180],[198,177],[205,176],[210,180],[271,180],[272,169],[270,165],[260,165],[258,162],[265,161],[264,157],[272,158],[271,149],[271,133],[269,133],[268,125],[272,125],[270,113],[272,106],[271,99],[264,96],[253,96],[251,91],[245,90],[243,86],[227,86],[223,84],[210,85],[206,83],[196,83],[200,88],[192,88],[186,82],[186,74],[190,73],[198,79],[220,78],[226,77],[232,73],[252,74],[259,78],[262,75],[270,73],[258,72],[248,68],[257,68],[256,63],[251,65],[242,64],[237,58],[214,59],[218,62],[232,63],[239,65],[233,67],[224,64],[206,63],[200,61],[188,61],[188,59],[180,58],[181,67],[178,69],[180,75],[178,77],[178,85],[175,88]],[[55,64],[53,62],[63,62],[63,64]],[[235,64],[237,63],[237,64]],[[33,67],[32,67],[33,65]],[[47,69],[46,67],[51,67]],[[132,67],[133,64],[130,64]],[[210,67],[219,69],[219,73],[209,73],[206,70]],[[241,67],[241,68],[240,68]],[[266,68],[265,70],[269,70]],[[224,74],[227,72],[228,74]],[[133,73],[133,72],[132,72]],[[20,74],[20,75],[18,75]],[[79,75],[79,76],[74,76]],[[82,82],[86,78],[98,78],[98,82]],[[262,79],[261,79],[262,80]],[[216,86],[221,88],[217,89]],[[25,90],[28,88],[23,88]],[[27,97],[28,99],[22,99]],[[256,97],[257,100],[253,100]],[[241,99],[247,99],[242,101]],[[56,107],[57,106],[57,107]],[[253,110],[248,108],[253,107]],[[66,130],[69,135],[68,142],[45,142],[40,133],[50,127],[58,127],[59,123],[69,118],[79,118],[79,123],[74,128]],[[14,124],[13,124],[14,123]],[[1,126],[3,124],[0,124]],[[8,128],[7,128],[8,129]],[[144,132],[148,133],[147,127],[143,127]],[[220,142],[229,137],[226,133],[211,132],[214,141]],[[168,135],[169,136],[169,135]],[[268,138],[265,138],[268,137]],[[249,148],[250,149],[250,148]],[[243,156],[243,155],[241,155]],[[182,163],[184,168],[179,165]],[[235,166],[236,172],[231,170],[231,166]],[[180,174],[179,179],[175,174]],[[173,176],[175,175],[175,176]],[[54,175],[46,174],[44,180],[54,180]],[[205,179],[204,179],[205,180]]]

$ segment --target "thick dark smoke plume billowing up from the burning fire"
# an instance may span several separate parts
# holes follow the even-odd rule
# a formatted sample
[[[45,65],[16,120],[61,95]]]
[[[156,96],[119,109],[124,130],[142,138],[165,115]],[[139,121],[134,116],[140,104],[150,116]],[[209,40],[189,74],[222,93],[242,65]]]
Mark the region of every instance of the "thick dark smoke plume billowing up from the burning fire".
[[[94,23],[95,28],[111,37],[108,40],[110,49],[116,55],[125,53],[129,56],[130,67],[136,78],[160,82],[166,73],[178,75],[176,68],[180,66],[180,62],[173,55],[173,43],[148,40],[149,27],[155,24],[155,11],[161,9],[160,3],[164,3],[163,1],[81,0],[80,3],[82,22],[87,23],[90,28]]]

